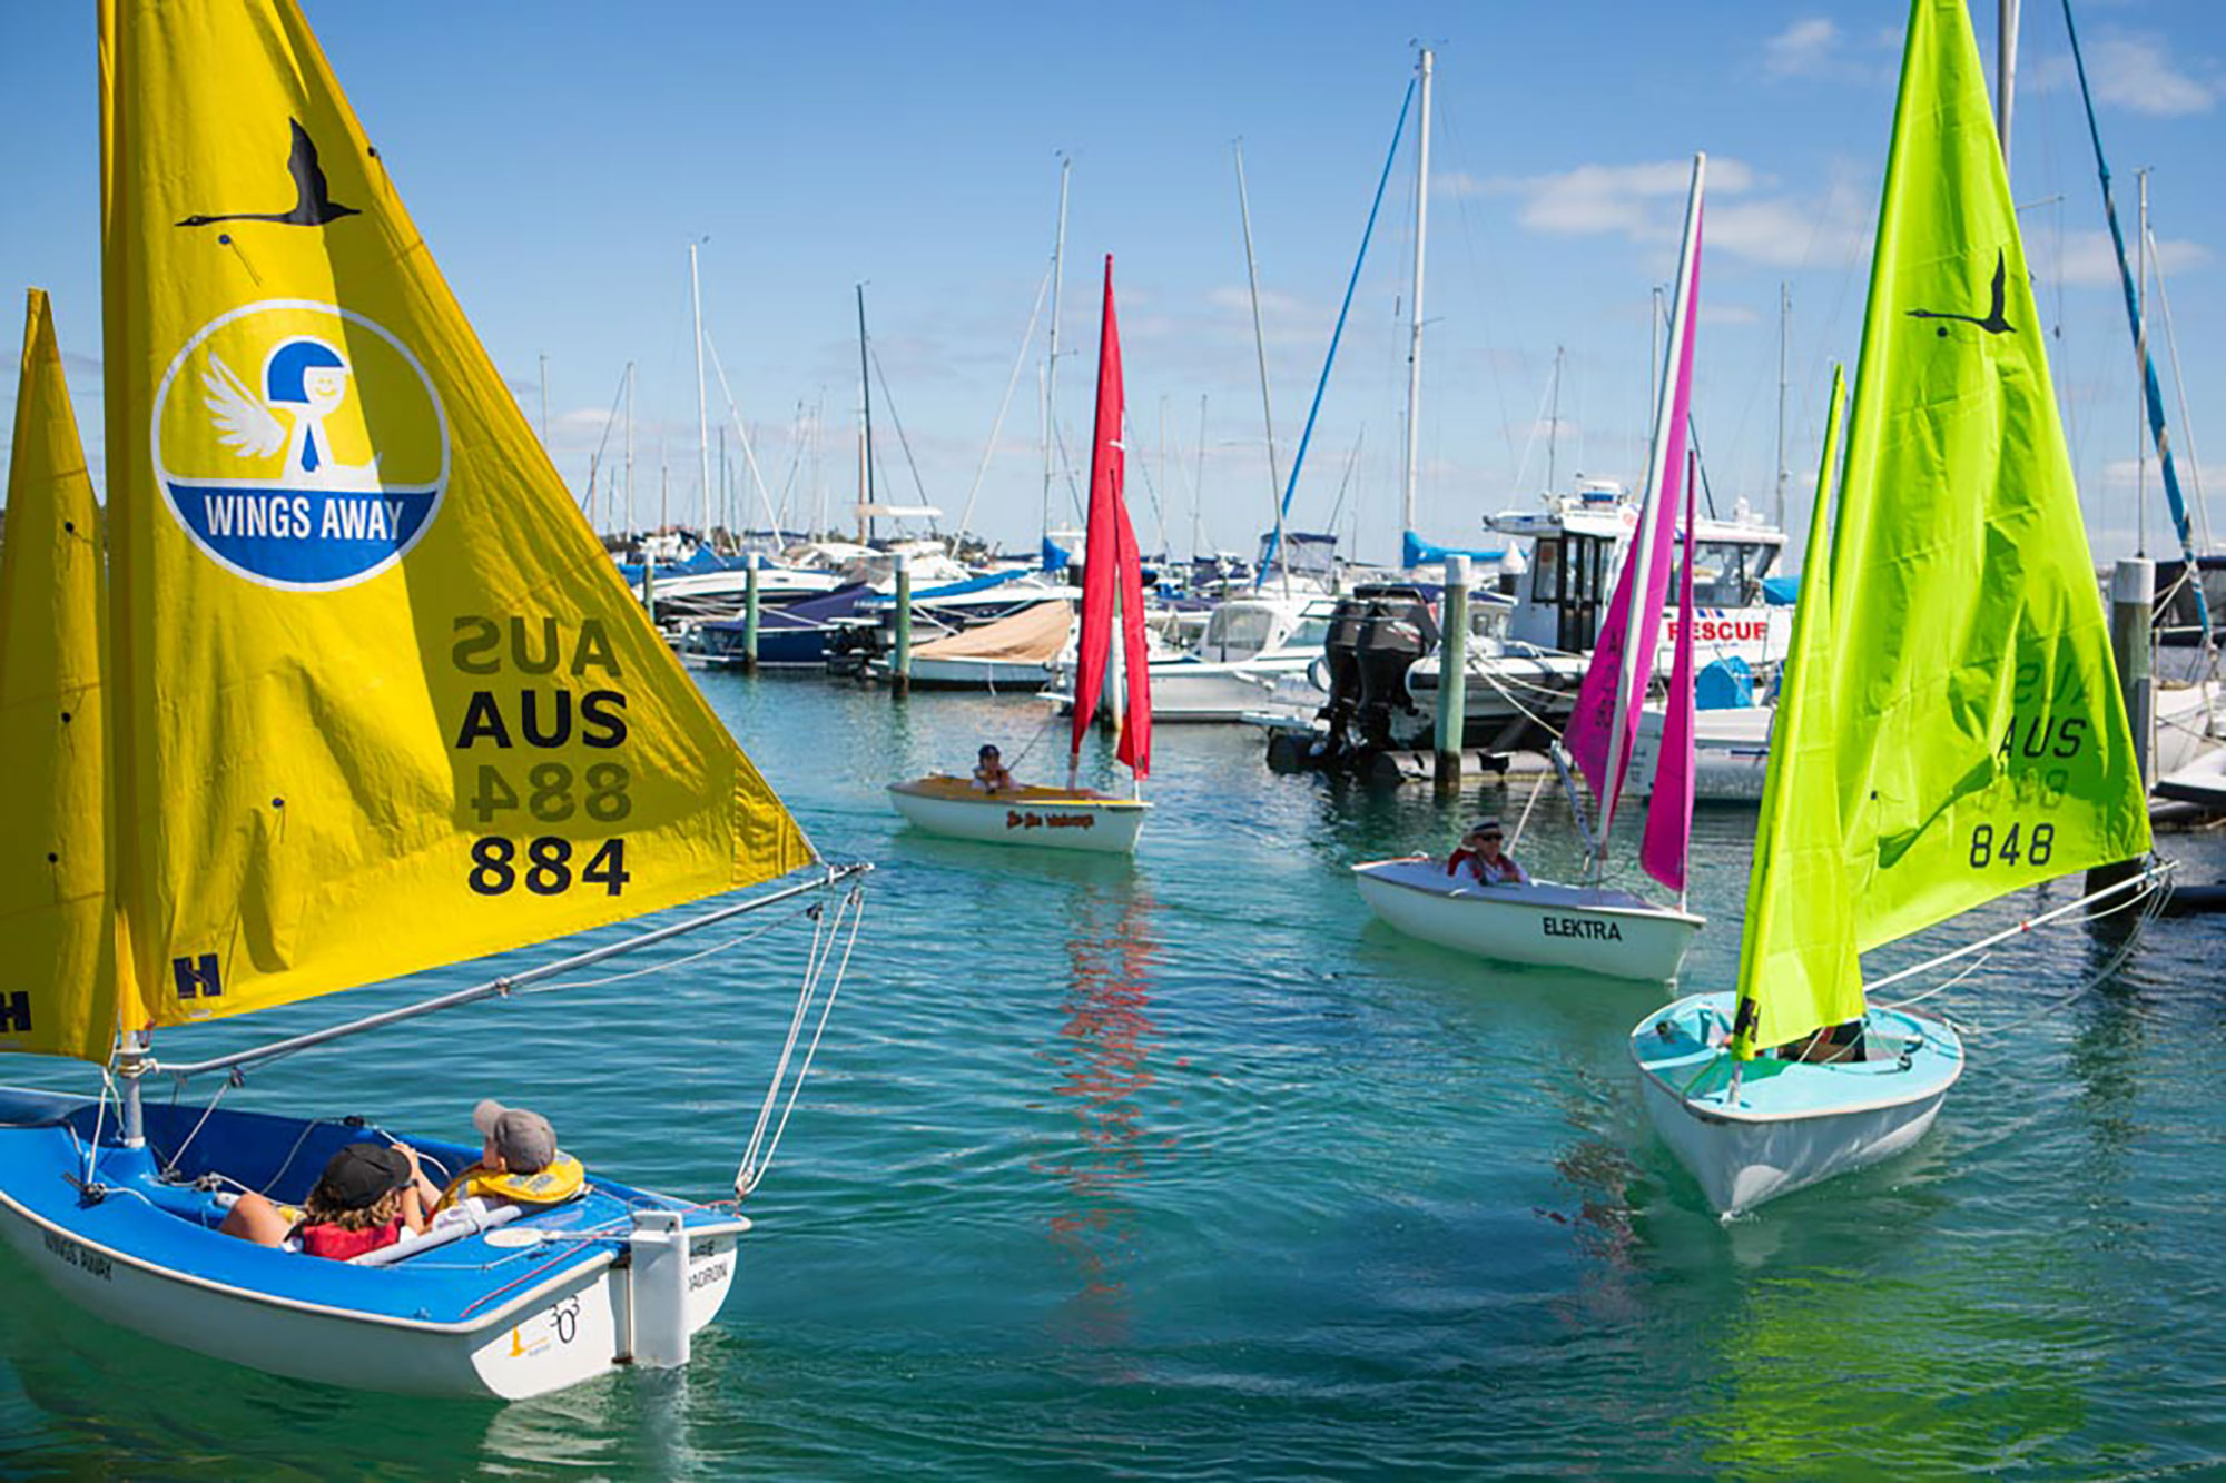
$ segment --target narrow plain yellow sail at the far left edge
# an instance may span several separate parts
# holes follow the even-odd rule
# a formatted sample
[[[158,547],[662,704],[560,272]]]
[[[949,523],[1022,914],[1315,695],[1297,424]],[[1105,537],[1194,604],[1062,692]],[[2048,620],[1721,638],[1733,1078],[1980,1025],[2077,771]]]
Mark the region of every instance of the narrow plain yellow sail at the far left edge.
[[[31,289],[0,541],[0,1051],[107,1060],[116,1040],[100,510]]]

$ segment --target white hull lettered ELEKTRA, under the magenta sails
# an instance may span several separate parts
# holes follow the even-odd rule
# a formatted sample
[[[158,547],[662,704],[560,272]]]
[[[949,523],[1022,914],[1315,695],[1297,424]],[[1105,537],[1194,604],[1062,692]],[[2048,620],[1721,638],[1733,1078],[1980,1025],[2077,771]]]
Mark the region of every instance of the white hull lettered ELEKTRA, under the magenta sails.
[[[1705,924],[1629,891],[1462,884],[1436,860],[1371,860],[1353,866],[1353,884],[1378,917],[1411,937],[1603,978],[1676,978]]]

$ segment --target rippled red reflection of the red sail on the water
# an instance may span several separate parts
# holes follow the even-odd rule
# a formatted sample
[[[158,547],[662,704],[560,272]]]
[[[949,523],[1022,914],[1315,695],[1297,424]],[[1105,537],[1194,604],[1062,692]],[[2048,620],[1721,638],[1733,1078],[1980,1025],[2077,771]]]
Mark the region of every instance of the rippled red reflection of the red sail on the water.
[[[1051,1240],[1082,1278],[1064,1323],[1089,1345],[1122,1345],[1131,1327],[1126,1269],[1137,1229],[1135,1187],[1149,1156],[1173,1138],[1153,1138],[1144,1100],[1158,1076],[1160,1029],[1151,1020],[1151,969],[1160,955],[1158,906],[1137,886],[1080,888],[1068,897],[1066,1015],[1046,1060],[1053,1093],[1077,1124],[1075,1151],[1035,1167],[1064,1182],[1068,1209],[1051,1218]]]

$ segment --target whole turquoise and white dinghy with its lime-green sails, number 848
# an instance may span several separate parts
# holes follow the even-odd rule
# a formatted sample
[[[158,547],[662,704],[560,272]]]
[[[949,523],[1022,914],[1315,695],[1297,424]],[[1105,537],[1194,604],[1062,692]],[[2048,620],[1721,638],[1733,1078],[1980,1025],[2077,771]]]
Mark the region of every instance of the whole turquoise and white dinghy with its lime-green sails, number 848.
[[[2095,601],[1963,0],[1910,4],[1874,258],[1845,465],[1832,387],[1736,993],[1632,1031],[1656,1129],[1725,1214],[1932,1127],[1961,1040],[1881,989],[2133,906],[2161,875],[2117,868],[2150,844],[2146,742]],[[1865,991],[1861,953],[2097,866],[2117,884]]]

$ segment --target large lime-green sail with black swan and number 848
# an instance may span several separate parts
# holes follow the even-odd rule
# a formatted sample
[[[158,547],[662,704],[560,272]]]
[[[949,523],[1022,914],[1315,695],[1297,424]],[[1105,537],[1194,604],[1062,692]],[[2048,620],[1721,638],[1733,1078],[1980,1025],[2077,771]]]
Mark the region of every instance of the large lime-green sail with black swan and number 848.
[[[1963,0],[1910,7],[1832,586],[1861,949],[2148,848]]]

